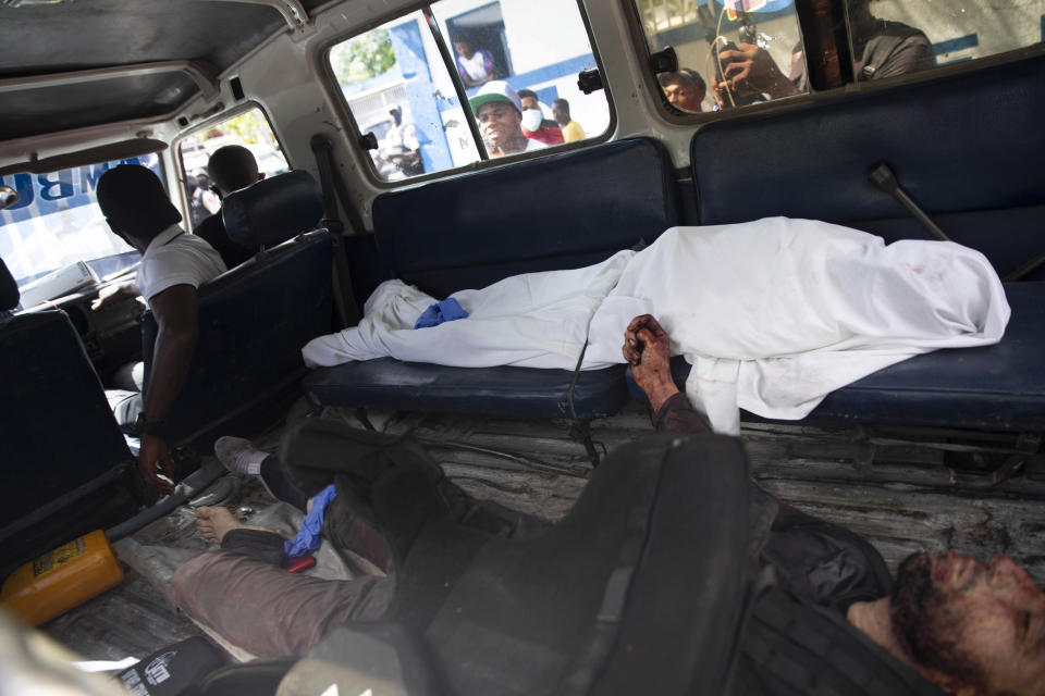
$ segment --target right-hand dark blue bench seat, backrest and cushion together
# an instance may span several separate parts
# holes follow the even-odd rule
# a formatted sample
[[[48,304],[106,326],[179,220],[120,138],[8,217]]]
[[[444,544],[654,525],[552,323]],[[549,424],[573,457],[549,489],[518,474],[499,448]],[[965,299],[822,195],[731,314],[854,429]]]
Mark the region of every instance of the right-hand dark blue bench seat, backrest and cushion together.
[[[887,163],[952,239],[999,275],[1045,252],[1045,57],[723,119],[693,135],[701,224],[785,215],[930,238],[868,171]],[[757,192],[757,195],[754,194]],[[1045,266],[1006,284],[1005,338],[939,350],[824,399],[815,419],[1045,431]],[[676,376],[688,368],[676,365]]]

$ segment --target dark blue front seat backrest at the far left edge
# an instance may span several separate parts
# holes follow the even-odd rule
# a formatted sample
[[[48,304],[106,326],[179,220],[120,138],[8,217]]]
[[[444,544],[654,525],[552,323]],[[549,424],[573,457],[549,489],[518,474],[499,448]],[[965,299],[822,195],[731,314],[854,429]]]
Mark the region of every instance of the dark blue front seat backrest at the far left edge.
[[[3,299],[16,306],[17,288]],[[63,511],[115,481],[133,457],[65,312],[0,320],[0,548],[10,561],[89,531]]]

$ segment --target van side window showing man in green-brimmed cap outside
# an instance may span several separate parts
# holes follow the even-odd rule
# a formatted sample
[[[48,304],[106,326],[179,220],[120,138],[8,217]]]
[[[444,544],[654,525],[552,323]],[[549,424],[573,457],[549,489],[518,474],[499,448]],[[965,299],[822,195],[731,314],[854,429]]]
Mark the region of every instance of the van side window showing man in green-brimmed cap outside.
[[[328,60],[360,135],[372,135],[370,159],[384,181],[598,137],[610,125],[605,94],[577,87],[577,74],[597,63],[570,0],[443,0],[337,44]],[[504,120],[487,135],[479,125],[483,147],[455,82],[469,99],[503,84],[491,101]]]

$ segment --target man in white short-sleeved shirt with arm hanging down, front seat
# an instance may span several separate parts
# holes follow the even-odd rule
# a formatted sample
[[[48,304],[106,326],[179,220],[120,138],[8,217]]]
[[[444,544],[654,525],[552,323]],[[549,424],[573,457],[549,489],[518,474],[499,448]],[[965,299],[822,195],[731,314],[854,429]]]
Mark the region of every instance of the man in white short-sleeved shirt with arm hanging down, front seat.
[[[196,349],[196,290],[223,273],[225,264],[206,240],[185,234],[179,224],[181,213],[148,169],[121,164],[107,171],[98,179],[97,196],[112,232],[143,254],[137,291],[152,310],[159,331],[149,390],[137,419],[138,471],[150,488],[169,494],[174,487],[163,423]]]

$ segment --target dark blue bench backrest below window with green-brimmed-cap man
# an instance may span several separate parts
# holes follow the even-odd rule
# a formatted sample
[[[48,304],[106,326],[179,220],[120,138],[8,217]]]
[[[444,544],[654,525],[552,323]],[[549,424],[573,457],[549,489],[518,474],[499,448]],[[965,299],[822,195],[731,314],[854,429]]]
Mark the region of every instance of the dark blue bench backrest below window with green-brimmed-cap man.
[[[655,140],[608,142],[383,194],[377,246],[392,272],[444,297],[509,275],[598,263],[679,222]],[[364,298],[360,298],[360,300]]]

